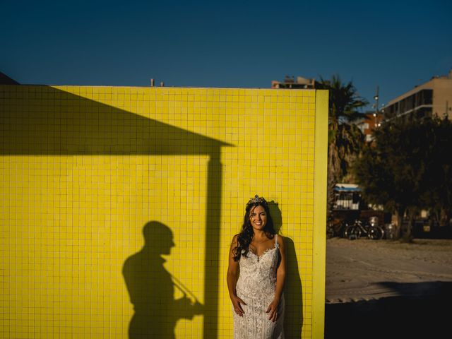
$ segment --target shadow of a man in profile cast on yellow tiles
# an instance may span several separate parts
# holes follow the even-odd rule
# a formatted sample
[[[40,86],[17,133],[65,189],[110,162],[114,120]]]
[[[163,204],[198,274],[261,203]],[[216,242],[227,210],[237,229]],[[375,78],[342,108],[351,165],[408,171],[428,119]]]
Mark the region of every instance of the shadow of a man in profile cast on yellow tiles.
[[[196,297],[165,269],[163,255],[174,246],[172,231],[160,222],[143,227],[143,249],[126,259],[124,280],[133,304],[129,338],[175,338],[179,319],[192,319],[202,313]],[[174,288],[184,296],[174,299]]]

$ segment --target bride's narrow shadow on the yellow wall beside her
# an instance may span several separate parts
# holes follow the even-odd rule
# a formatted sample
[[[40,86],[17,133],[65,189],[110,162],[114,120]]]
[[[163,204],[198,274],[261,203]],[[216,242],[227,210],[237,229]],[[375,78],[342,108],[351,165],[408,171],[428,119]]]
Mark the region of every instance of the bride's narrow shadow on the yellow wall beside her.
[[[278,203],[268,203],[270,215],[273,219],[276,232],[280,232],[283,226],[283,215]],[[284,235],[284,234],[283,234]],[[286,338],[302,338],[303,327],[303,291],[302,280],[299,276],[297,254],[292,239],[284,237],[287,254],[287,272],[285,278],[285,319],[284,334]]]

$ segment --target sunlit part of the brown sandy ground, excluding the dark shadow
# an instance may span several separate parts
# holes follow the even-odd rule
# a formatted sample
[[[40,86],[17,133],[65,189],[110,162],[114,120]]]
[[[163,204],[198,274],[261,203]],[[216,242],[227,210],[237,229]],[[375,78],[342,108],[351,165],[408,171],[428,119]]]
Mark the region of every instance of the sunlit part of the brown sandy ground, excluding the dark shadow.
[[[452,282],[452,240],[327,240],[326,302],[425,295],[439,281]]]

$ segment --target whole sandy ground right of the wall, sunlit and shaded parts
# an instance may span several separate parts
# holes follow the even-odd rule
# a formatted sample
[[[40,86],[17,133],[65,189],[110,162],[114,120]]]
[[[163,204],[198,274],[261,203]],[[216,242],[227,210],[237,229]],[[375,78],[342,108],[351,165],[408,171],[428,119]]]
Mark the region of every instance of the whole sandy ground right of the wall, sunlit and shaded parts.
[[[450,239],[328,239],[325,338],[448,338],[451,291]]]

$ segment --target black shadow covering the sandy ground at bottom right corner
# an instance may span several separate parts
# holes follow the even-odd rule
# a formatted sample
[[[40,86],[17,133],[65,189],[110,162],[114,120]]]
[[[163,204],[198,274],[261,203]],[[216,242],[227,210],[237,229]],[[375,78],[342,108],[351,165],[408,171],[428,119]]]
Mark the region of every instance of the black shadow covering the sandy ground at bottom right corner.
[[[325,338],[450,338],[452,283],[388,283],[403,296],[326,304]]]

